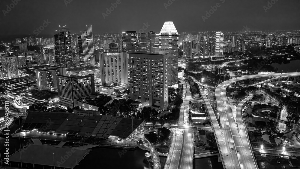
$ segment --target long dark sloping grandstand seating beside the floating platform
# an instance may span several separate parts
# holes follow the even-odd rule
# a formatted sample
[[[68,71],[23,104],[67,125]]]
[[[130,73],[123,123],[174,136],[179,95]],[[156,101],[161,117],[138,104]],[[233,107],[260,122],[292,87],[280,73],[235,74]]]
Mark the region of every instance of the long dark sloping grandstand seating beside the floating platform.
[[[79,116],[64,112],[30,112],[22,130],[37,129],[41,132],[54,131],[55,134],[97,138],[116,136],[125,139],[132,133],[132,121],[134,130],[143,123],[140,119],[107,115]]]

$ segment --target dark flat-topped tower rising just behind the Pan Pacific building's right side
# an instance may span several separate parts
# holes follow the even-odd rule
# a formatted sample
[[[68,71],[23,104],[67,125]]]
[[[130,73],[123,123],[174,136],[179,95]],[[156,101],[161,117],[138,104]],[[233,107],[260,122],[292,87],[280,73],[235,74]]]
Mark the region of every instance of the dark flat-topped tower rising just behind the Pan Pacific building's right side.
[[[137,52],[137,31],[122,32],[122,51],[129,54]]]

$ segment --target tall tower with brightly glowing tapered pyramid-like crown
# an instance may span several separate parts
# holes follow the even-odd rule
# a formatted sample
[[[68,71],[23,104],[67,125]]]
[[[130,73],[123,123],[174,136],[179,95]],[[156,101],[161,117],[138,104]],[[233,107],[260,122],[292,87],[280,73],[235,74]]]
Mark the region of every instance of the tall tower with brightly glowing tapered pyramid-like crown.
[[[169,86],[178,86],[178,32],[173,22],[165,22],[159,33],[159,54],[168,55]]]

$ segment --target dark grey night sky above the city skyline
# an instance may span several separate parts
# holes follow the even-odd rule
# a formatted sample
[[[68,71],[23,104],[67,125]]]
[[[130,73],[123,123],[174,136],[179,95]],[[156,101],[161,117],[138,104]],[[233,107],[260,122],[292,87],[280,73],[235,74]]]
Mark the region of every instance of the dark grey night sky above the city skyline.
[[[246,26],[250,30],[300,29],[298,0],[169,0],[169,3],[173,2],[171,5],[167,5],[168,0],[120,0],[105,19],[102,13],[117,0],[19,1],[17,5],[11,5],[14,7],[8,13],[3,10],[7,10],[6,5],[12,1],[0,1],[0,36],[33,34],[44,20],[51,23],[40,35],[52,35],[58,25],[67,25],[71,33],[83,31],[86,25],[92,25],[93,33],[121,33],[139,31],[144,23],[148,23],[145,32],[159,32],[164,21],[173,21],[179,33],[240,31]],[[263,6],[268,7],[268,1],[275,3],[265,12]],[[219,7],[204,22],[202,16],[216,3],[220,3]]]

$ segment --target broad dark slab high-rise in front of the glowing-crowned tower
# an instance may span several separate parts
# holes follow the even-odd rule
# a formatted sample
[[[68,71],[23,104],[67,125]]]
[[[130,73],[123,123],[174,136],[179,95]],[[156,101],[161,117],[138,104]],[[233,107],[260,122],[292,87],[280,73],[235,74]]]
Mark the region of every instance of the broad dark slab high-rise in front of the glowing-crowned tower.
[[[129,88],[131,99],[149,100],[150,106],[168,107],[168,55],[129,54]]]

